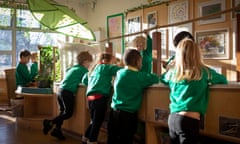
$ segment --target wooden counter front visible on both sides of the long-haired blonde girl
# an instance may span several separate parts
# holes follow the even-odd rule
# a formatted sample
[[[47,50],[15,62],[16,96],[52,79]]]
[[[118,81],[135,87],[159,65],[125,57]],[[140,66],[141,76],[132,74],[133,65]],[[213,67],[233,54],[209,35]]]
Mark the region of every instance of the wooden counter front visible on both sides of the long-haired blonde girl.
[[[210,88],[206,115],[201,120],[202,135],[240,143],[240,85],[215,85]],[[146,144],[162,144],[160,128],[167,128],[169,114],[169,89],[163,85],[149,87],[146,91],[145,111]],[[141,112],[140,112],[141,113]]]

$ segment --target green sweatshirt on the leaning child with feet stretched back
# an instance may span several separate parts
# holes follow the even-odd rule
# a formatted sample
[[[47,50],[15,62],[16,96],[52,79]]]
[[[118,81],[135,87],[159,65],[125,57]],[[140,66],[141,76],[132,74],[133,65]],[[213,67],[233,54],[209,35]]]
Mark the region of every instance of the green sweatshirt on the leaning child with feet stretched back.
[[[61,82],[60,88],[76,94],[78,86],[82,82],[84,74],[87,72],[88,69],[84,66],[79,64],[74,65],[67,70],[67,73]]]

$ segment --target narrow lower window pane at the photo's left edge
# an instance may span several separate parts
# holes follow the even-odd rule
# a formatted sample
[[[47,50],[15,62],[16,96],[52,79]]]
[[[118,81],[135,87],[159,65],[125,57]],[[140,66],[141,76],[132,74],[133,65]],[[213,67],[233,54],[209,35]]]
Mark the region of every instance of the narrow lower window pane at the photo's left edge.
[[[0,30],[0,51],[12,50],[12,31]]]

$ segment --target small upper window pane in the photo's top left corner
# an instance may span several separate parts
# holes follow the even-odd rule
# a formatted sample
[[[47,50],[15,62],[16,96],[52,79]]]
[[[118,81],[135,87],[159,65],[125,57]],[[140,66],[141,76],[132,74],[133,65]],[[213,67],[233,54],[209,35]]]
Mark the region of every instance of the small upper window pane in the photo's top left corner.
[[[0,8],[0,25],[11,26],[11,9]]]

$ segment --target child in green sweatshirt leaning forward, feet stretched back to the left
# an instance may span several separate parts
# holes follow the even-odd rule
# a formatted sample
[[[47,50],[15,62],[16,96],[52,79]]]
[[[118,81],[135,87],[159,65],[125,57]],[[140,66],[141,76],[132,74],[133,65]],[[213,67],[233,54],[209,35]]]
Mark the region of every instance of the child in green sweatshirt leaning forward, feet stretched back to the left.
[[[77,56],[78,64],[72,66],[67,70],[64,79],[62,80],[57,93],[57,100],[59,105],[59,115],[52,120],[43,120],[43,133],[46,135],[55,125],[51,131],[53,137],[59,140],[65,140],[62,134],[61,126],[63,121],[72,117],[74,112],[75,95],[79,84],[85,73],[88,72],[88,67],[92,62],[92,55],[83,51]]]

